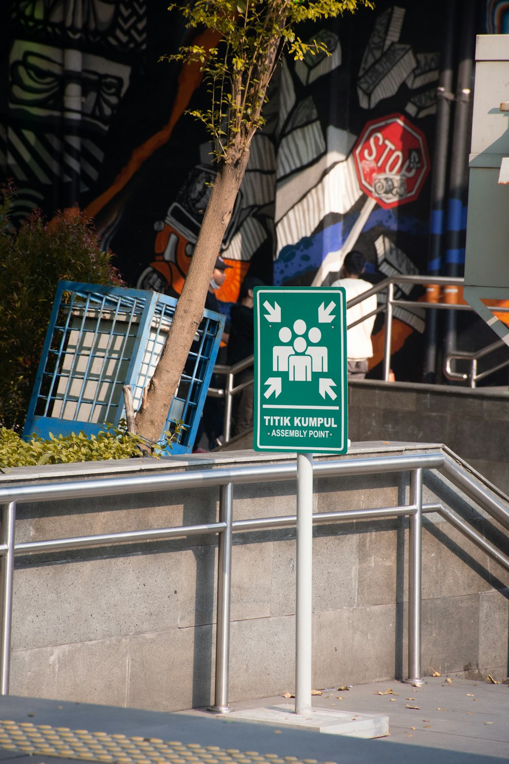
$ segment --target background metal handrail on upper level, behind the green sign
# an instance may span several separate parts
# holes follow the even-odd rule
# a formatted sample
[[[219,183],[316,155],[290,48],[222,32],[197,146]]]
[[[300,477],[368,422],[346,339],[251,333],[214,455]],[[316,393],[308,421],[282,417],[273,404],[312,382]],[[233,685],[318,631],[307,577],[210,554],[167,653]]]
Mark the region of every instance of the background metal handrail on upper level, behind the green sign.
[[[386,279],[383,279],[382,281],[379,281],[379,283],[375,284],[375,286],[372,286],[371,289],[366,290],[366,292],[362,292],[356,297],[353,297],[352,299],[349,299],[346,303],[346,308],[353,308],[353,306],[359,305],[359,303],[364,302],[365,299],[368,299],[369,297],[372,297],[373,295],[382,295],[383,292],[386,292],[385,300],[382,301],[382,305],[378,306],[375,310],[372,310],[369,312],[366,316],[362,316],[362,318],[358,319],[357,321],[352,322],[349,324],[346,328],[347,329],[353,329],[354,326],[362,323],[363,321],[366,321],[366,319],[372,318],[372,316],[377,316],[379,313],[385,312],[385,329],[384,329],[384,354],[383,354],[383,361],[382,361],[382,379],[385,382],[388,382],[391,378],[391,340],[392,340],[392,320],[394,317],[394,308],[422,308],[425,310],[429,309],[439,309],[439,310],[469,310],[473,312],[473,308],[470,305],[464,305],[462,303],[427,303],[427,302],[421,302],[420,300],[410,300],[410,299],[395,299],[394,296],[394,287],[395,284],[399,283],[410,283],[414,284],[414,286],[430,286],[430,285],[436,285],[436,286],[463,286],[464,279],[462,278],[455,278],[455,277],[449,277],[449,276],[426,276],[425,274],[419,274],[417,276],[405,276],[403,274],[400,274],[398,276],[390,276]],[[509,312],[509,307],[497,307],[497,312],[501,313],[507,313]],[[498,342],[495,342],[494,345],[490,345],[489,348],[495,349],[495,345],[497,348],[501,347],[501,345],[505,345],[503,340],[499,340]],[[490,350],[488,348],[485,348],[485,351],[479,351],[480,354],[477,355],[477,358],[482,358],[484,355],[487,355]],[[462,353],[455,353],[450,354],[447,358],[470,358],[470,355],[464,355]],[[224,426],[223,426],[223,439],[224,443],[228,443],[231,440],[231,411],[232,411],[232,403],[234,396],[238,395],[242,392],[242,390],[245,390],[246,387],[249,387],[253,384],[254,380],[246,380],[243,383],[237,385],[237,387],[234,387],[234,375],[238,374],[240,371],[244,371],[246,368],[249,368],[250,366],[253,366],[254,364],[254,356],[250,355],[247,358],[244,358],[243,361],[239,361],[234,366],[226,366],[224,364],[217,364],[214,366],[214,374],[221,374],[226,377],[224,388],[220,387],[209,387],[208,388],[208,396],[214,397],[214,398],[223,398],[224,399]],[[482,374],[476,374],[475,371],[475,380],[483,379],[484,377],[487,377],[488,374],[493,374],[495,371],[499,371],[499,369],[504,368],[504,366],[509,366],[509,360],[506,361],[504,364],[499,364],[498,366],[492,368],[488,371],[483,371]],[[447,367],[450,369],[450,364]],[[477,367],[475,366],[475,369]],[[454,371],[449,371],[449,374],[451,376],[448,376],[446,373],[446,377],[448,379],[459,379],[459,380],[466,380],[469,379],[472,380],[472,375],[470,377],[467,377],[466,374],[457,374]],[[475,384],[470,384],[470,387],[475,387]]]

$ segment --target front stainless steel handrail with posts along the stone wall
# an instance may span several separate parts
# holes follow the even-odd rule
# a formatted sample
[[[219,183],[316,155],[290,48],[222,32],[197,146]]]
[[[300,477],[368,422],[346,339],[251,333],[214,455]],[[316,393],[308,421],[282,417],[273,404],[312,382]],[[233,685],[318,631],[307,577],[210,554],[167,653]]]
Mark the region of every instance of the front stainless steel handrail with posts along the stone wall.
[[[509,511],[504,503],[489,494],[444,452],[412,455],[380,456],[372,458],[343,458],[314,462],[314,477],[335,477],[352,474],[380,474],[381,472],[410,473],[410,502],[401,507],[382,507],[315,513],[314,523],[346,522],[408,516],[410,523],[409,605],[408,605],[408,681],[421,682],[420,666],[420,607],[421,607],[421,535],[422,513],[439,512],[458,528],[483,552],[509,571],[509,558],[483,538],[475,529],[441,504],[422,503],[423,471],[438,469],[466,495],[471,497],[498,523],[509,529]],[[119,544],[134,541],[160,540],[198,533],[217,533],[219,537],[219,564],[217,571],[217,633],[214,706],[212,710],[226,712],[228,705],[229,645],[230,645],[230,591],[232,533],[255,529],[294,526],[297,516],[234,520],[234,484],[260,481],[282,481],[297,476],[295,462],[283,465],[255,465],[237,468],[195,470],[187,473],[127,475],[121,478],[91,478],[89,480],[60,481],[50,484],[0,487],[0,591],[2,591],[2,623],[0,624],[0,694],[8,694],[11,613],[13,592],[14,555],[29,552],[49,552],[61,549],[80,549],[98,544]],[[182,487],[220,488],[219,520],[192,526],[175,526],[122,533],[101,533],[67,539],[48,539],[37,542],[14,542],[16,503],[72,499],[75,497],[105,497],[118,494],[146,493],[157,490],[176,490]]]

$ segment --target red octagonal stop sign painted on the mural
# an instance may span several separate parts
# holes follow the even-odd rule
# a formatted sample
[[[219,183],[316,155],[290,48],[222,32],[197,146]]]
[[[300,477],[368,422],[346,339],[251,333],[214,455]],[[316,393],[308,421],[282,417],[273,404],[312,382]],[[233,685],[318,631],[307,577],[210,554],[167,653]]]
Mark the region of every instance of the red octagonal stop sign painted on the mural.
[[[361,189],[385,209],[417,199],[430,171],[426,137],[402,114],[367,122],[353,156]]]

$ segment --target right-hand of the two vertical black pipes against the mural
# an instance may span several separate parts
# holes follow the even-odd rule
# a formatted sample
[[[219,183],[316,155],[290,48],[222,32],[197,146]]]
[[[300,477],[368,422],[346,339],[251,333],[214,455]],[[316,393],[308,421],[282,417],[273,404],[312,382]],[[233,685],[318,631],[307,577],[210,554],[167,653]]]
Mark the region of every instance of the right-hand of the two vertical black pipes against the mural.
[[[449,177],[447,208],[446,276],[460,276],[465,264],[465,222],[463,210],[468,187],[468,156],[472,125],[472,75],[475,50],[475,0],[463,0],[459,39],[459,66],[453,127],[453,156]],[[458,287],[446,290],[446,302],[458,302]],[[456,290],[456,292],[454,291]],[[456,311],[446,313],[444,354],[456,350]]]

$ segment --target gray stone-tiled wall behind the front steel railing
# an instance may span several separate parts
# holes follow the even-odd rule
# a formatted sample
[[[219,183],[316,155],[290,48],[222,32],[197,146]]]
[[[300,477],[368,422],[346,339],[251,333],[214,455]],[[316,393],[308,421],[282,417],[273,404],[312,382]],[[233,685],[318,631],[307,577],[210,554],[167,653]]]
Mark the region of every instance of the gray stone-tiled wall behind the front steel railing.
[[[359,443],[351,455],[440,450]],[[285,461],[246,451],[48,465],[11,470],[0,486]],[[314,510],[393,507],[408,502],[408,482],[408,473],[320,478]],[[218,497],[203,488],[19,504],[16,540],[213,522]],[[470,518],[507,554],[507,533],[441,474],[425,472],[424,501]],[[295,481],[234,487],[235,520],[293,513]],[[315,526],[315,687],[404,678],[407,568],[404,518]],[[234,534],[232,578],[230,700],[292,691],[295,529]],[[216,579],[215,536],[17,557],[11,693],[165,711],[208,704]],[[423,597],[424,673],[507,676],[509,574],[436,514],[424,517]]]

